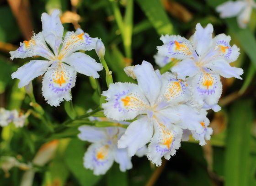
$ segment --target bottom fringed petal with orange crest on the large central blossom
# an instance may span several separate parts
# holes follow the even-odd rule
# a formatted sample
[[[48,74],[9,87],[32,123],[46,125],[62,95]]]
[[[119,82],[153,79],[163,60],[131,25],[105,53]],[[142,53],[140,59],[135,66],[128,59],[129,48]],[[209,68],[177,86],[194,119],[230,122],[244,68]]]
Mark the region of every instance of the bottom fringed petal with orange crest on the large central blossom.
[[[155,133],[149,143],[147,154],[150,161],[156,166],[162,164],[161,158],[170,159],[181,146],[182,130],[176,126],[166,128],[164,124],[154,122]]]

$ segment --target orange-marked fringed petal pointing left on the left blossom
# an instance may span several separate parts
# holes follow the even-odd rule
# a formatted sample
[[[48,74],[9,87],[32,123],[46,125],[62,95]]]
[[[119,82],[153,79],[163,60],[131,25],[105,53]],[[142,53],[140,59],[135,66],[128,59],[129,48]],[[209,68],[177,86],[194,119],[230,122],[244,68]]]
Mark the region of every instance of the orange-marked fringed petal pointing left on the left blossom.
[[[29,41],[24,41],[21,43],[21,47],[16,51],[10,52],[11,59],[14,58],[27,58],[32,56],[42,56],[48,60],[53,59],[53,53],[50,52],[50,49],[45,43],[43,34],[39,32],[34,34],[34,36]]]

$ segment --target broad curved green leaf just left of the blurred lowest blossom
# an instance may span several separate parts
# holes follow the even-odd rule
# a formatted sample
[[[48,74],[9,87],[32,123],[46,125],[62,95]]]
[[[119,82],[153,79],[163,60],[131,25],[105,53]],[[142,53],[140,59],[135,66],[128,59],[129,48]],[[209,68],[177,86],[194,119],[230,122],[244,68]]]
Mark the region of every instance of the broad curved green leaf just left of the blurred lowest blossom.
[[[85,169],[83,166],[85,144],[86,142],[80,139],[72,139],[66,149],[65,161],[81,186],[93,186],[101,179],[101,176],[93,175],[92,170]]]

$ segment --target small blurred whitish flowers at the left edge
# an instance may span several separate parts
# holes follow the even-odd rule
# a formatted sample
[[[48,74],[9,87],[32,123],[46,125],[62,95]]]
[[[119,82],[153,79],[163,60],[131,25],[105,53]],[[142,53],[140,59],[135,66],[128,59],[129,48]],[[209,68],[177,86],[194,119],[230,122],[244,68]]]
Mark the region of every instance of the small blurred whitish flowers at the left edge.
[[[6,127],[9,125],[9,123],[13,122],[16,128],[23,127],[28,115],[29,113],[22,114],[19,113],[16,109],[8,111],[5,110],[5,108],[0,108],[0,126]]]

